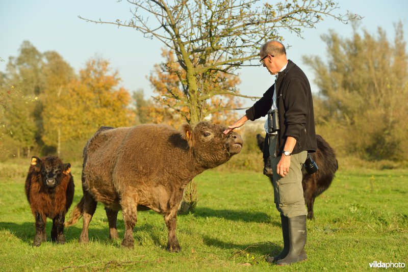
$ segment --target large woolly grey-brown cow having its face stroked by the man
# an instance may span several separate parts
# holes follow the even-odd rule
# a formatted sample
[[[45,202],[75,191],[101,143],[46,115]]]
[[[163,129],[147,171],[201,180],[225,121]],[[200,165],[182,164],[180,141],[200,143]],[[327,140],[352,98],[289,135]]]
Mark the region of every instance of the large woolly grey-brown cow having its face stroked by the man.
[[[225,127],[199,123],[182,131],[166,125],[101,127],[84,148],[84,196],[65,225],[83,215],[80,242],[88,239],[88,226],[97,201],[104,203],[110,237],[118,237],[117,212],[123,211],[122,246],[133,247],[137,211],[152,209],[164,215],[167,249],[181,250],[175,235],[176,214],[185,186],[199,173],[217,167],[241,151],[243,141]]]

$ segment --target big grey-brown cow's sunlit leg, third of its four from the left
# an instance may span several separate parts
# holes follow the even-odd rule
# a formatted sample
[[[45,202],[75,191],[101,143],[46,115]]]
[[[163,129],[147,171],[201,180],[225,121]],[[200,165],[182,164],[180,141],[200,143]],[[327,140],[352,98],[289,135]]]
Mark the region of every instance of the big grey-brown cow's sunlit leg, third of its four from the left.
[[[122,196],[120,205],[122,206],[123,222],[125,226],[122,246],[125,248],[133,248],[133,228],[137,222],[137,196],[133,194]]]

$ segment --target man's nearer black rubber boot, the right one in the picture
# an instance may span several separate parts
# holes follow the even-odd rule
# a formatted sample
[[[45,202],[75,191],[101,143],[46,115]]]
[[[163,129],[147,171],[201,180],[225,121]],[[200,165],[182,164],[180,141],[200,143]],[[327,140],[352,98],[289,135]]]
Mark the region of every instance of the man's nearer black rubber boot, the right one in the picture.
[[[289,253],[285,258],[278,260],[277,265],[289,265],[307,260],[304,245],[306,244],[306,215],[290,217],[289,222]]]

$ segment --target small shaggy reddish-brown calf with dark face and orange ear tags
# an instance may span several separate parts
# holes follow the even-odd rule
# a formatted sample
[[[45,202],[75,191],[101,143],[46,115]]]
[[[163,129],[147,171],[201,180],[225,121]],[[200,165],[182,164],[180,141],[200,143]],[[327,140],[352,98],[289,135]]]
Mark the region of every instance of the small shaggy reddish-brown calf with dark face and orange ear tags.
[[[70,164],[49,156],[43,159],[32,157],[27,179],[25,195],[35,217],[34,246],[46,241],[46,217],[53,220],[51,240],[65,243],[65,214],[72,204],[74,184],[70,174]]]

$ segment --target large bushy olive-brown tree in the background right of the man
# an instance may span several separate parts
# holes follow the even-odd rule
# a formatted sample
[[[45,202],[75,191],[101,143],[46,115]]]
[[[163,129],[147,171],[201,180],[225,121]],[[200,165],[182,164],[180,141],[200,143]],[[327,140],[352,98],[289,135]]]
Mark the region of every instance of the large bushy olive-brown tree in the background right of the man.
[[[327,63],[305,57],[316,73],[317,129],[341,154],[363,159],[403,160],[408,135],[408,55],[402,24],[393,42],[378,28],[377,35],[350,38],[334,31],[323,35]]]

